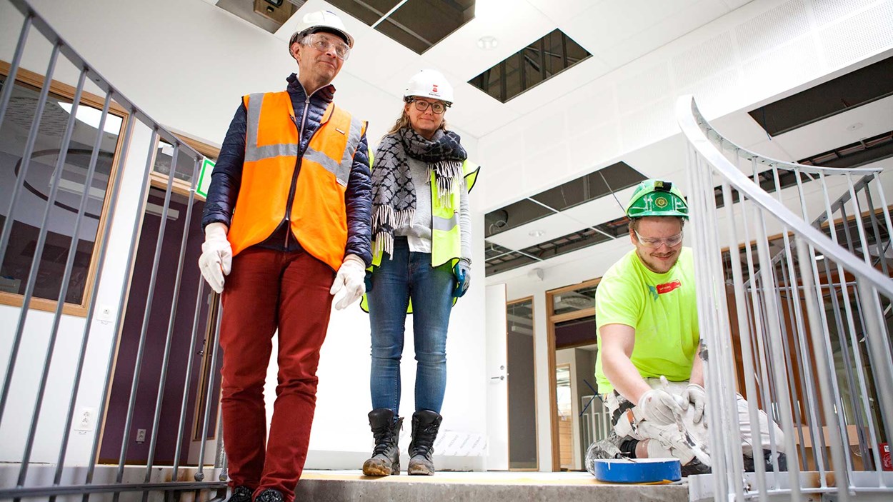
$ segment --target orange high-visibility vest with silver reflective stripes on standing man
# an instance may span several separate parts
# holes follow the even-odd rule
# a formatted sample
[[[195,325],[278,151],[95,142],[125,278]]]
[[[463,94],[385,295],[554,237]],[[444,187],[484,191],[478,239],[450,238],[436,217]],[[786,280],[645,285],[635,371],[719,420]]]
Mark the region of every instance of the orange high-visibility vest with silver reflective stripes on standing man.
[[[232,254],[270,237],[288,218],[307,253],[338,270],[347,243],[344,195],[366,123],[329,104],[297,169],[298,130],[287,91],[243,97],[248,111],[245,164],[227,238]],[[305,112],[306,113],[306,112]]]

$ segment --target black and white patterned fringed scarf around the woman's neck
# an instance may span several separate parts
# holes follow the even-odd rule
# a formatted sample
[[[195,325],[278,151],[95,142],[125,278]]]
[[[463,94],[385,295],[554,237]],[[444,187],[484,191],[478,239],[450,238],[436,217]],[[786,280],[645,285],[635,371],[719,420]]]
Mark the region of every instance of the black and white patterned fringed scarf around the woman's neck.
[[[375,151],[372,170],[372,238],[374,253],[394,253],[394,230],[413,223],[415,187],[406,155],[428,163],[434,172],[438,197],[449,204],[449,196],[462,180],[462,163],[468,154],[459,135],[445,130],[435,139],[422,138],[411,127],[397,130],[381,139]]]

